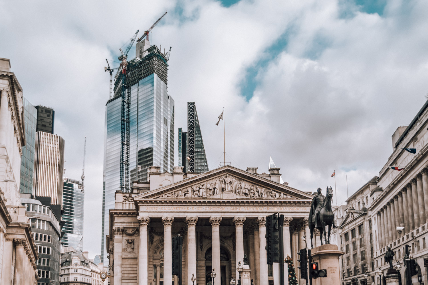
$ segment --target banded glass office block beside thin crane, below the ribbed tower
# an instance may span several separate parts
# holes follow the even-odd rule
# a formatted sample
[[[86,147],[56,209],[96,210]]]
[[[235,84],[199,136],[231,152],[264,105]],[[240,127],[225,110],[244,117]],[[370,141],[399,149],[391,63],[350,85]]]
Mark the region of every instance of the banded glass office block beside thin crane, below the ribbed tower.
[[[85,204],[85,190],[81,180],[64,178],[62,192],[62,207],[65,221],[62,231],[65,232],[61,238],[64,247],[74,247],[83,250],[83,208]]]

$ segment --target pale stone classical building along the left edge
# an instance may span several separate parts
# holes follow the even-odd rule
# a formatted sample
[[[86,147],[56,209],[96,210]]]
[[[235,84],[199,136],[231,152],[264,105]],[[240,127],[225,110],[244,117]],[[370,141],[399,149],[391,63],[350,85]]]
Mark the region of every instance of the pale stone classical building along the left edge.
[[[19,183],[25,145],[22,88],[0,59],[0,284],[37,284],[36,246],[21,205]]]

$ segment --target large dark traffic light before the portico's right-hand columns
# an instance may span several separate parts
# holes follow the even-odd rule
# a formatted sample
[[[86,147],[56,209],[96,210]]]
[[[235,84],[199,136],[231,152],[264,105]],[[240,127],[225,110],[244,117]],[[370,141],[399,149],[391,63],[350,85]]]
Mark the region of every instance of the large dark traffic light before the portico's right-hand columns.
[[[266,255],[267,264],[279,262],[279,224],[276,214],[266,217]]]

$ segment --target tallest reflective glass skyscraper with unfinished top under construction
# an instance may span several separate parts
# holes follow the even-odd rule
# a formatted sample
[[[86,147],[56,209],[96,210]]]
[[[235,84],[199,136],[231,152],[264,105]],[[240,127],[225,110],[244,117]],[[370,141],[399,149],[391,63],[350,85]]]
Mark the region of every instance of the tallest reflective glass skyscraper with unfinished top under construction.
[[[172,172],[174,166],[174,100],[167,93],[167,59],[158,47],[137,48],[137,57],[128,63],[127,84],[131,94],[130,181],[145,182],[148,168]],[[115,82],[115,96],[107,101],[104,129],[104,181],[101,258],[108,261],[105,236],[108,213],[114,208],[114,193],[119,190],[121,80]]]

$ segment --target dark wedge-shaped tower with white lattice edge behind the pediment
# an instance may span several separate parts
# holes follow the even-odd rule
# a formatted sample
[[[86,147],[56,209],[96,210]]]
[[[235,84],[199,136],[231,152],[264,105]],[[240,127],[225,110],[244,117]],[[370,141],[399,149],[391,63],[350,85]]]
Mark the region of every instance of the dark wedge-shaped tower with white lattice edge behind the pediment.
[[[187,132],[183,132],[181,128],[178,129],[178,166],[183,166],[184,172],[208,171],[195,102],[187,102]]]

